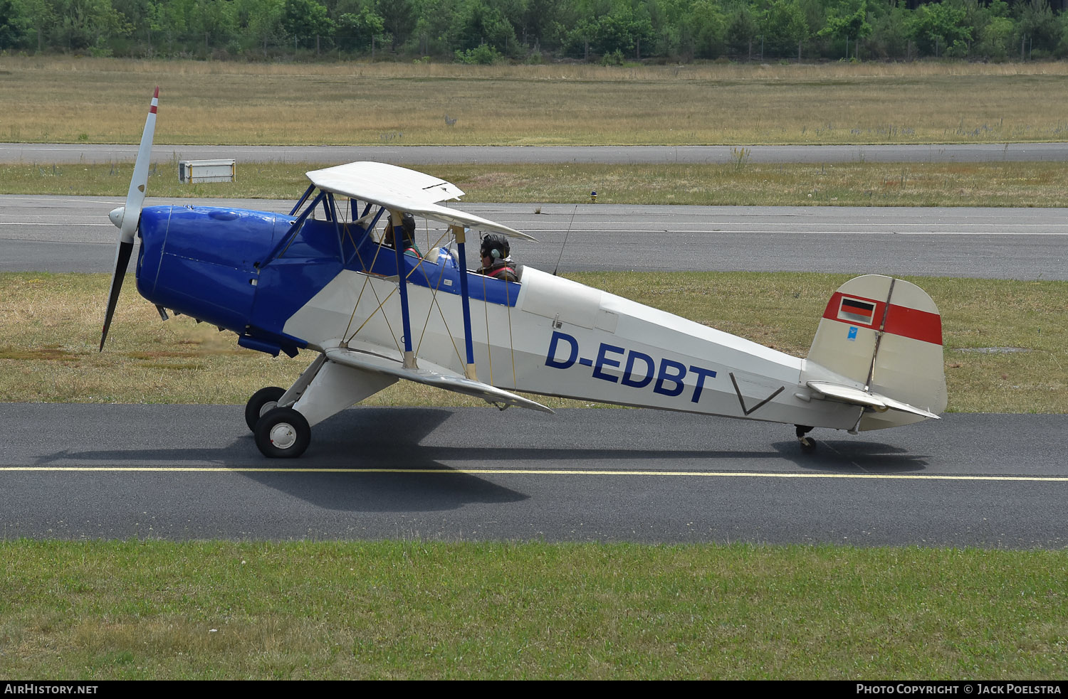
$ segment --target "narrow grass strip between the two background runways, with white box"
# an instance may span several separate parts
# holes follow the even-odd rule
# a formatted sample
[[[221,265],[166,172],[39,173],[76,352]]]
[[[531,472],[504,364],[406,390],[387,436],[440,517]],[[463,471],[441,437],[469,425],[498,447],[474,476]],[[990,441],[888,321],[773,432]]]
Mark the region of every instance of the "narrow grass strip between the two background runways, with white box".
[[[295,200],[305,172],[332,163],[238,165],[237,181],[177,181],[177,164],[150,175],[152,196]],[[835,163],[710,165],[412,165],[454,182],[465,202],[738,206],[1068,206],[1068,163]],[[0,164],[0,194],[125,196],[132,163]]]

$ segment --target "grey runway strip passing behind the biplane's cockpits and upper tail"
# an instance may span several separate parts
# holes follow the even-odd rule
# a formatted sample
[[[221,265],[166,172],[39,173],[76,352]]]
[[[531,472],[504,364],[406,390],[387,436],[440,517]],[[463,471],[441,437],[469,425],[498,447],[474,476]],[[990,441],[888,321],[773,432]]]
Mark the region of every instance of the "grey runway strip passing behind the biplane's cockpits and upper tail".
[[[148,198],[148,204],[172,203]],[[182,200],[286,213],[289,201]],[[0,271],[110,272],[121,197],[0,196]],[[552,271],[879,272],[1068,279],[1068,210],[464,204],[528,232],[514,256]],[[440,231],[420,232],[427,249]],[[565,245],[566,239],[566,245]]]

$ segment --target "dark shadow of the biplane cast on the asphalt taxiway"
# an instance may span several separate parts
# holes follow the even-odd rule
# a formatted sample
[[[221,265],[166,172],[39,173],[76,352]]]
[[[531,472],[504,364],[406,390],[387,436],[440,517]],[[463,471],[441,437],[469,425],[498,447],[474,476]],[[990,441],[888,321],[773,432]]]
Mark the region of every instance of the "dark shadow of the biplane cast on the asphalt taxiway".
[[[634,448],[598,444],[596,435],[590,436],[592,445],[585,448],[471,444],[481,442],[483,435],[450,432],[444,424],[453,415],[447,409],[365,408],[360,410],[358,425],[351,415],[336,415],[314,428],[312,447],[294,460],[263,457],[252,435],[244,433],[221,447],[64,450],[43,456],[37,463],[74,460],[119,466],[263,468],[239,475],[316,507],[350,512],[446,511],[468,504],[514,503],[530,497],[492,482],[487,475],[454,473],[465,467],[700,471],[722,470],[724,461],[741,461],[764,471],[755,462],[785,459],[810,471],[897,473],[926,465],[923,458],[898,447],[847,441],[821,441],[814,454],[802,454],[792,440],[772,443],[770,449],[751,450]],[[551,435],[545,441],[552,444]],[[351,471],[360,478],[323,473],[324,468]],[[301,470],[308,473],[300,474]],[[419,473],[423,471],[440,473]]]

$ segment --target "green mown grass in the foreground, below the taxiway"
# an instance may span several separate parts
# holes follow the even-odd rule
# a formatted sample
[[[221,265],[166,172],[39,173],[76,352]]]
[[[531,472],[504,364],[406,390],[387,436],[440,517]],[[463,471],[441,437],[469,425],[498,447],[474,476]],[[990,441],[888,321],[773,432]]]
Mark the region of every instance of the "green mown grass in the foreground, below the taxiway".
[[[0,541],[0,672],[1057,679],[1063,552]]]

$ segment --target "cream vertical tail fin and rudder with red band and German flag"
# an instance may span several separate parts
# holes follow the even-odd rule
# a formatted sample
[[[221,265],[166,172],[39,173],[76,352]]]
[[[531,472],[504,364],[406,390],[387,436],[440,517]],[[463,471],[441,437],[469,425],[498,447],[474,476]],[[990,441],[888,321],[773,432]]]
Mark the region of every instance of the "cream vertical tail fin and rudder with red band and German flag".
[[[890,398],[883,402],[895,410],[883,407],[883,412],[877,408],[865,413],[862,430],[942,412],[946,391],[938,306],[904,280],[868,274],[846,282],[827,304],[801,378],[803,383],[824,382]],[[921,410],[902,410],[895,402]]]

